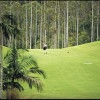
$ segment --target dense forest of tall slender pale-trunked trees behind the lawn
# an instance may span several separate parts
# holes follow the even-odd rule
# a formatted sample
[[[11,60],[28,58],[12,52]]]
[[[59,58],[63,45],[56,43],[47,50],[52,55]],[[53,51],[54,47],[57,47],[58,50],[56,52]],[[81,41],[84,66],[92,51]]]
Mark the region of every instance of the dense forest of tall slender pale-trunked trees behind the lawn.
[[[5,23],[9,36],[0,30],[2,44],[11,46],[11,25],[20,31],[17,48],[41,49],[44,43],[48,48],[65,48],[98,41],[99,6],[100,1],[0,1],[0,23]]]

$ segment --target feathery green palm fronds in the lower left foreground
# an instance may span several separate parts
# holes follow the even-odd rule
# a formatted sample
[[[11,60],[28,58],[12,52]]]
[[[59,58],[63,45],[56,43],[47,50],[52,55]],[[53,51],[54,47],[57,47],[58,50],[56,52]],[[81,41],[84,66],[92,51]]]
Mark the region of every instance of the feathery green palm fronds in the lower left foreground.
[[[43,83],[35,74],[40,74],[45,78],[44,71],[39,69],[36,60],[32,56],[20,55],[18,51],[13,45],[13,48],[4,56],[3,90],[18,89],[23,91],[24,87],[19,83],[19,80],[26,82],[29,88],[34,86],[38,91],[43,90]],[[23,50],[23,52],[26,51]]]

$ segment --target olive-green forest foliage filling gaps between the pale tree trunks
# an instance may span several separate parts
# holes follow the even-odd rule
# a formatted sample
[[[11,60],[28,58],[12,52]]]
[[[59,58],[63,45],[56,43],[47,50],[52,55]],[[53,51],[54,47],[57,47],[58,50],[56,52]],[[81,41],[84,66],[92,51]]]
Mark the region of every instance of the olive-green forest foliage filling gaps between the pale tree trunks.
[[[31,2],[32,2],[32,20],[31,20]],[[59,7],[58,7],[59,3]],[[100,10],[100,7],[98,6],[100,1],[95,2],[93,1],[93,34],[94,34],[94,41],[96,41],[97,38],[97,18],[99,22],[99,14],[98,11]],[[27,8],[26,8],[27,5]],[[57,45],[57,40],[59,40],[59,47],[64,47],[61,41],[64,41],[63,34],[66,34],[66,16],[67,16],[67,10],[66,10],[66,1],[3,1],[2,2],[2,13],[5,15],[9,12],[12,13],[14,16],[16,16],[16,21],[18,27],[21,29],[21,36],[17,38],[16,44],[19,48],[25,48],[26,41],[28,44],[28,48],[30,47],[30,33],[32,33],[32,48],[40,48],[40,44],[42,44],[45,40],[45,29],[46,29],[46,42],[49,46],[49,48],[54,48],[54,45]],[[42,8],[42,13],[41,13]],[[59,9],[60,8],[60,12]],[[69,1],[68,5],[68,34],[69,34],[69,46],[76,45],[76,30],[77,30],[77,8],[79,9],[79,32],[80,35],[82,31],[86,31],[88,39],[87,41],[90,42],[91,38],[91,23],[92,23],[92,1],[79,1],[79,5],[75,1]],[[26,10],[27,10],[27,17],[26,17]],[[58,15],[59,15],[59,21],[60,21],[60,27],[58,28]],[[41,18],[42,16],[42,18]],[[7,19],[12,20],[11,16],[6,16]],[[42,21],[41,21],[42,20]],[[27,22],[26,22],[27,21]],[[30,32],[30,23],[32,22],[32,32]],[[42,24],[41,24],[42,22]],[[9,22],[7,22],[9,23]],[[65,23],[65,24],[64,24]],[[2,25],[4,26],[4,25]],[[27,37],[26,37],[26,26],[27,26]],[[98,26],[100,26],[100,23],[98,23]],[[18,28],[17,27],[17,28]],[[8,33],[12,33],[9,30],[9,26],[5,24],[4,26],[5,30],[8,31]],[[12,28],[12,27],[10,27]],[[36,31],[37,30],[37,31]],[[40,31],[42,30],[42,31]],[[56,30],[56,31],[55,31]],[[58,30],[60,30],[60,37],[63,37],[62,39],[58,39]],[[7,33],[5,31],[5,33]],[[16,31],[17,32],[17,31]],[[98,33],[100,33],[100,30],[98,29]],[[55,34],[55,36],[54,36]],[[73,35],[72,35],[73,34]],[[83,32],[84,34],[84,32]],[[82,34],[81,34],[82,35]],[[40,38],[41,36],[41,38]],[[75,36],[74,38],[71,36]],[[100,34],[99,34],[100,36]],[[98,36],[98,37],[99,37]],[[9,35],[7,36],[9,37]],[[56,37],[56,39],[54,39]],[[83,36],[80,36],[83,37]],[[27,38],[27,39],[26,39]],[[41,40],[41,41],[40,41]],[[55,40],[55,41],[54,41]],[[79,43],[86,43],[82,42],[82,38],[78,40]],[[99,40],[99,39],[98,39]],[[4,38],[5,41],[5,38]],[[25,41],[25,42],[24,42]],[[42,43],[40,43],[42,42]],[[36,46],[35,46],[36,44]],[[56,46],[57,47],[57,46]]]

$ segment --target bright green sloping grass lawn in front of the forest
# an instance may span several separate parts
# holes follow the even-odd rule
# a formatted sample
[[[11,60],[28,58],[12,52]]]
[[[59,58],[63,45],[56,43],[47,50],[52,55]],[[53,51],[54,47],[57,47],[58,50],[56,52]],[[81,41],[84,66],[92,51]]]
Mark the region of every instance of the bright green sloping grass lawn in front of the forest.
[[[47,52],[29,50],[47,75],[41,77],[44,90],[38,92],[22,83],[25,90],[20,98],[100,98],[100,41]]]

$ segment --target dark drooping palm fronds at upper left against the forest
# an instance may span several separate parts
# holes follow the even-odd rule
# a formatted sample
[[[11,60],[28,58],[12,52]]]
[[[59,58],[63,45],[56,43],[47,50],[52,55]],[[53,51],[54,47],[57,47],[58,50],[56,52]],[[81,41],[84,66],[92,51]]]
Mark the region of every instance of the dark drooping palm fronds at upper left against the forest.
[[[11,42],[10,37],[12,37],[13,41],[13,38],[15,39],[15,37],[17,38],[18,35],[20,35],[20,29],[18,28],[16,16],[14,16],[13,14],[4,14],[2,16],[0,27],[2,28],[5,41],[7,42]]]

